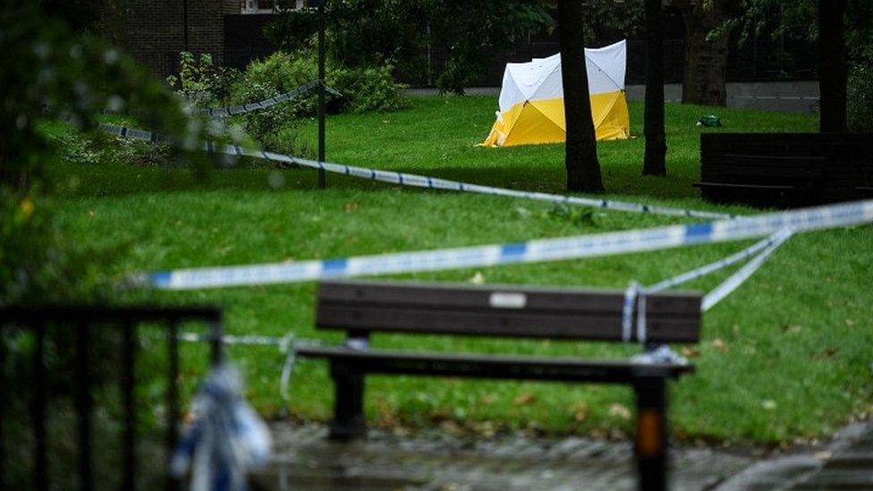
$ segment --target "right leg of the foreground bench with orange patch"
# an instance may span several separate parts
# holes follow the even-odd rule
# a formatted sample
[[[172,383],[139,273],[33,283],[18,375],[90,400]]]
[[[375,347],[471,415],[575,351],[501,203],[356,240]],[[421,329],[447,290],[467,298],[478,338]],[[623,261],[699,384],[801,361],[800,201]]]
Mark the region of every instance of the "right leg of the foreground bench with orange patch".
[[[637,438],[634,453],[640,489],[666,489],[666,382],[663,377],[640,377],[637,393]]]

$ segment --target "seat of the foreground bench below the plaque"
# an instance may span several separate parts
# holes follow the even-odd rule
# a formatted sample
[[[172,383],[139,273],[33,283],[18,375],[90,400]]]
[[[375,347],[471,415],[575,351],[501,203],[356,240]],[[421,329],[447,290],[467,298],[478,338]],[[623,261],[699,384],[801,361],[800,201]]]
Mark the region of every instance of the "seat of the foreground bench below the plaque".
[[[358,351],[349,348],[301,348],[306,358],[343,362],[355,373],[442,377],[510,378],[631,384],[639,377],[676,378],[694,371],[691,365],[640,364],[620,360],[578,360],[409,351]]]

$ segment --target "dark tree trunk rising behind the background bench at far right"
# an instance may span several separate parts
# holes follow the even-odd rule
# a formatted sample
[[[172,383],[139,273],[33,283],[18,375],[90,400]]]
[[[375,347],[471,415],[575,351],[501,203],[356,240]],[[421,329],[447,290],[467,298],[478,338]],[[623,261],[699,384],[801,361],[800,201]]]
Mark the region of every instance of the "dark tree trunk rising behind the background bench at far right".
[[[846,132],[844,0],[818,2],[818,85],[822,132]]]

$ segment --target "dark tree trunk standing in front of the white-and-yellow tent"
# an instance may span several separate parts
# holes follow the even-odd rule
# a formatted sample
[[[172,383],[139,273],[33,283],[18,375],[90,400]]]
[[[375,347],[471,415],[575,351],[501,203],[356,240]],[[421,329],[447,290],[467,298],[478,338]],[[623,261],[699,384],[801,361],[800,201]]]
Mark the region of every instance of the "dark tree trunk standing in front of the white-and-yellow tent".
[[[558,38],[567,130],[564,165],[567,167],[567,190],[598,192],[604,187],[585,68],[583,8],[579,0],[558,0]]]

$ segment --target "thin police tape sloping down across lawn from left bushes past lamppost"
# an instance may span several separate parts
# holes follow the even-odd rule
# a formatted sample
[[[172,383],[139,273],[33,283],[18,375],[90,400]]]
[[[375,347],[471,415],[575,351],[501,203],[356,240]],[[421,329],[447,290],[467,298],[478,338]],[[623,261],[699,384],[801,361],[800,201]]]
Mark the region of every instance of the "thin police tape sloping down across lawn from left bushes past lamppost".
[[[154,131],[136,130],[124,126],[114,124],[101,124],[100,128],[103,131],[118,135],[124,138],[145,141],[170,141],[165,135],[161,135]],[[231,155],[235,157],[255,157],[271,162],[283,162],[285,164],[302,165],[313,169],[323,169],[326,172],[335,174],[351,175],[352,177],[360,177],[379,182],[390,182],[392,184],[401,184],[403,186],[412,186],[418,188],[430,188],[436,190],[455,190],[463,192],[474,192],[478,194],[487,194],[493,196],[504,196],[509,198],[533,199],[537,201],[546,201],[555,204],[564,204],[581,207],[597,207],[602,209],[626,211],[632,213],[648,213],[652,215],[665,216],[687,216],[693,218],[735,218],[733,215],[724,213],[714,213],[709,211],[698,211],[691,209],[682,209],[674,207],[658,207],[654,205],[641,205],[639,203],[629,203],[625,201],[614,201],[611,199],[591,199],[581,198],[578,196],[568,196],[563,194],[549,194],[545,192],[531,192],[523,190],[508,190],[505,188],[495,188],[492,186],[481,186],[479,184],[470,184],[468,182],[449,181],[439,179],[437,177],[428,177],[418,174],[396,173],[394,171],[380,171],[377,169],[369,169],[366,167],[355,167],[353,165],[332,164],[329,162],[317,162],[306,158],[292,157],[273,152],[253,148],[242,148],[239,145],[222,145],[211,141],[203,144],[203,149],[209,153],[219,153]]]

